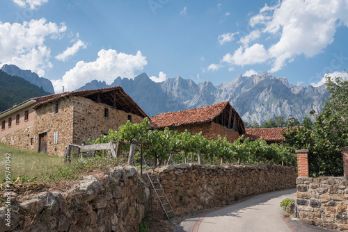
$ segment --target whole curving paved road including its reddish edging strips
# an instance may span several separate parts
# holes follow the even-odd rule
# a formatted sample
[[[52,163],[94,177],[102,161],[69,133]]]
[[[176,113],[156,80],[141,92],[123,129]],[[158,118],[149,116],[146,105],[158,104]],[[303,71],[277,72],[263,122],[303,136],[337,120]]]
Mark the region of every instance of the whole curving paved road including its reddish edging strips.
[[[296,189],[260,194],[209,213],[190,217],[173,232],[324,232],[296,219],[283,219],[285,212],[280,201],[296,199]]]

